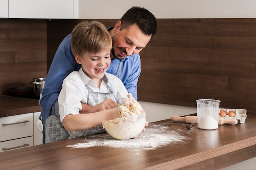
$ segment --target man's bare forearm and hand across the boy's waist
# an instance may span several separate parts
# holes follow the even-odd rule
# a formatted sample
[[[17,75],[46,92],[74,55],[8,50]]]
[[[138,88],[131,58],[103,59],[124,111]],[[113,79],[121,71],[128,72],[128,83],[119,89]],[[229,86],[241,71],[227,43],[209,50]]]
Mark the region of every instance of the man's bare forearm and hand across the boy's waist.
[[[107,109],[113,109],[115,107],[118,107],[119,105],[112,99],[104,100],[103,102],[99,103],[96,106],[91,106],[82,103],[82,110],[80,113],[94,113],[99,112]]]

